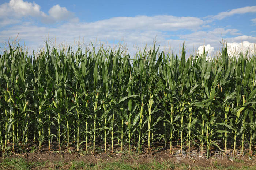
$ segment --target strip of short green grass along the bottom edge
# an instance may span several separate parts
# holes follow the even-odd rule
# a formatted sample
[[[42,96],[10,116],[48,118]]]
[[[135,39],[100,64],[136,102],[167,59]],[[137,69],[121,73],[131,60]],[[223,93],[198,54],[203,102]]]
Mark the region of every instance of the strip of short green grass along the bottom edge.
[[[244,162],[241,162],[244,163]],[[71,162],[63,162],[57,161],[54,163],[50,163],[49,161],[45,161],[42,163],[39,162],[28,162],[25,158],[5,158],[0,164],[1,169],[16,169],[16,170],[27,170],[27,169],[70,169],[70,170],[174,170],[174,169],[181,169],[181,170],[201,170],[201,169],[218,169],[218,170],[255,170],[256,166],[246,166],[243,165],[242,167],[238,168],[234,165],[231,166],[222,166],[218,165],[217,163],[214,164],[212,167],[200,167],[200,166],[192,166],[190,167],[186,163],[172,163],[170,161],[157,161],[153,160],[152,162],[148,163],[139,163],[139,162],[124,162],[124,161],[98,161],[97,163],[90,163],[87,161],[71,161]]]

